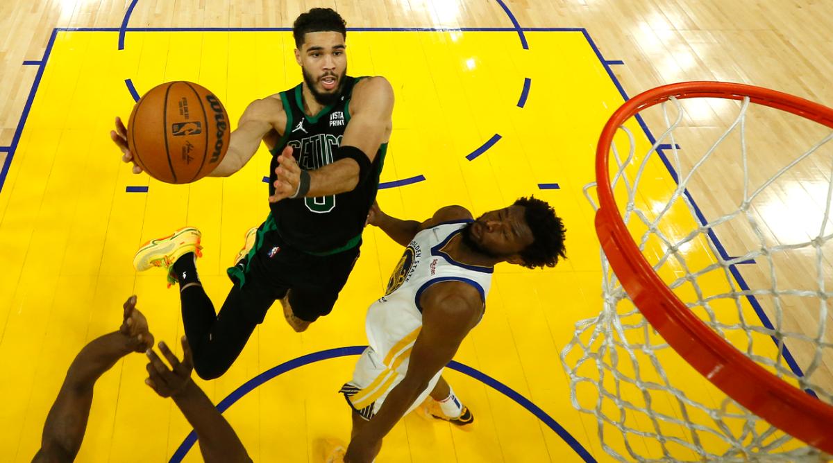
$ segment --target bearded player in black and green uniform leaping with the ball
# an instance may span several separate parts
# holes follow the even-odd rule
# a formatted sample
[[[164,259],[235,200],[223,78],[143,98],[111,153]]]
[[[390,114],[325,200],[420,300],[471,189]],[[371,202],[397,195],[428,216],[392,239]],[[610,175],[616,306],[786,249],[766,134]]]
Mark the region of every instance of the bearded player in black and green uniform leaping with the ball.
[[[330,313],[376,198],[392,131],[392,86],[380,76],[347,76],[347,30],[332,9],[303,13],[292,33],[302,83],[253,101],[212,173],[242,169],[261,142],[272,153],[271,211],[252,235],[252,249],[229,268],[234,285],[219,315],[197,278],[197,229],[152,240],[133,261],[137,270],[168,268],[169,283],[179,284],[194,366],[205,379],[227,371],[276,300],[297,332]],[[127,131],[119,120],[116,127],[112,140],[130,162]]]

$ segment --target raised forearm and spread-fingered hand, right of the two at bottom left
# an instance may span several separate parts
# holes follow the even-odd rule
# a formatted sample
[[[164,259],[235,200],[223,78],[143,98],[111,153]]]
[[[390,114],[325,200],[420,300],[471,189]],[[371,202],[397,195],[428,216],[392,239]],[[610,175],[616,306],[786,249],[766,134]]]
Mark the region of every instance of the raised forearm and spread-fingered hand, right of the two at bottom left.
[[[159,351],[171,367],[168,368],[156,352],[147,349],[150,362],[147,363],[149,377],[145,383],[161,397],[171,397],[177,404],[182,415],[197,432],[202,459],[207,463],[252,461],[232,426],[217,411],[205,392],[192,381],[194,365],[187,339],[182,337],[182,362],[164,342],[159,342]]]

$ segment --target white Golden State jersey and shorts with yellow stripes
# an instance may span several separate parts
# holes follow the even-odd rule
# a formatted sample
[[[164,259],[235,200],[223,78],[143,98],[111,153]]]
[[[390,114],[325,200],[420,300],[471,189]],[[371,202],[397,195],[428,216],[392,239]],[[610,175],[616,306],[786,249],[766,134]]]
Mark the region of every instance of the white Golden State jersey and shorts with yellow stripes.
[[[342,392],[354,409],[370,419],[408,368],[408,360],[422,328],[420,297],[432,284],[461,281],[471,284],[486,301],[493,268],[461,264],[444,248],[471,220],[459,220],[420,231],[405,249],[387,284],[387,293],[367,310],[365,329],[370,346],[362,354],[353,381]],[[431,380],[420,401],[440,376]]]

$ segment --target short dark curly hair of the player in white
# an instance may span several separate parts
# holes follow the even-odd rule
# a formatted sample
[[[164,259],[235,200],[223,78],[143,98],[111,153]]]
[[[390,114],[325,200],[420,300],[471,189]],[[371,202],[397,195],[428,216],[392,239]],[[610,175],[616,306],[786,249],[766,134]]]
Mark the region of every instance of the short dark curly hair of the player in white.
[[[564,235],[567,230],[555,209],[534,196],[519,198],[513,205],[523,206],[526,225],[535,239],[521,251],[522,265],[526,268],[555,267],[558,258],[566,259]]]

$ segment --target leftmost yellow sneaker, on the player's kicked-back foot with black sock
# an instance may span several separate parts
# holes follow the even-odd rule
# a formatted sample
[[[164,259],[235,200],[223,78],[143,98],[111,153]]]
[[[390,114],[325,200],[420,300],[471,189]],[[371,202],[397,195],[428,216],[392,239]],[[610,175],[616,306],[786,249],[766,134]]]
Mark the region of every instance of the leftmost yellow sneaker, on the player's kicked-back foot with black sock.
[[[148,268],[162,267],[167,272],[167,287],[177,283],[173,277],[173,263],[182,257],[183,254],[194,253],[202,257],[202,246],[200,245],[202,234],[194,227],[178,229],[173,234],[164,238],[151,239],[143,244],[133,257],[133,268],[142,272]]]

